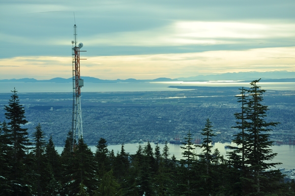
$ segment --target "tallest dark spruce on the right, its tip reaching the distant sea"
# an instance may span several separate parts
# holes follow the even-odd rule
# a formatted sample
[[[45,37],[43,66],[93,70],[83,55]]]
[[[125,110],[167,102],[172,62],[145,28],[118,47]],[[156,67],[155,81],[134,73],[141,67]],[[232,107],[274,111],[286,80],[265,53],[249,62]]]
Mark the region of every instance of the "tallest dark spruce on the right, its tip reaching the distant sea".
[[[280,178],[271,175],[272,172],[266,171],[271,167],[275,167],[280,163],[269,163],[277,153],[273,153],[270,147],[273,145],[269,140],[269,132],[271,126],[276,126],[277,122],[266,122],[266,105],[263,105],[263,93],[266,90],[257,85],[259,80],[252,81],[251,88],[247,91],[249,99],[247,100],[246,120],[247,120],[247,136],[245,138],[245,165],[248,167],[247,178],[251,182],[252,190],[247,188],[247,192],[251,191],[252,195],[267,193],[265,189],[269,180]]]

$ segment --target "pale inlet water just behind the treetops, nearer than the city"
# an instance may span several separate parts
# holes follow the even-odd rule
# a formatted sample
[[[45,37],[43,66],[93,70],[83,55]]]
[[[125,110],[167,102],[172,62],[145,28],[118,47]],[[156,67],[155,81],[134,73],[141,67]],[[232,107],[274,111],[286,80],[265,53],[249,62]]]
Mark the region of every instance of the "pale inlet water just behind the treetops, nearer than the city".
[[[141,143],[142,146],[145,146],[147,143]],[[150,143],[153,150],[155,149],[156,144]],[[163,152],[163,148],[165,144],[158,144],[160,147],[161,153]],[[226,159],[226,152],[229,152],[230,149],[224,148],[226,145],[231,145],[231,143],[215,143],[212,148],[212,152],[214,152],[215,148],[218,148],[219,152],[221,155],[223,155]],[[139,143],[126,143],[124,144],[124,149],[126,153],[129,154],[135,154],[136,151],[138,150]],[[170,144],[168,143],[167,146],[169,147],[169,152],[170,152],[170,157],[174,154],[177,160],[182,159],[182,152],[184,151],[183,149],[180,148],[181,145],[177,144]],[[184,146],[184,145],[182,145]],[[89,146],[92,152],[95,152],[96,147]],[[56,149],[58,150],[59,153],[62,152],[63,147],[62,146],[56,146]],[[117,152],[120,152],[121,150],[121,145],[108,145],[108,149],[111,151],[112,149],[114,150],[115,154]],[[295,145],[274,145],[271,147],[274,153],[277,153],[277,156],[271,161],[272,163],[282,163],[282,165],[278,165],[277,168],[288,168],[288,169],[293,169],[295,168]],[[195,149],[196,154],[201,153],[200,148]]]

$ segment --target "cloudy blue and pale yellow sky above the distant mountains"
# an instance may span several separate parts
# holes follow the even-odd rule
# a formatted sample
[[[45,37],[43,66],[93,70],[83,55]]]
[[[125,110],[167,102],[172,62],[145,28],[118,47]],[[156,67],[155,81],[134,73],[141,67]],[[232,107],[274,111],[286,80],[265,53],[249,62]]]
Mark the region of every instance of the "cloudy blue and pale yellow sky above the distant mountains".
[[[294,0],[1,0],[0,80],[295,71]]]

